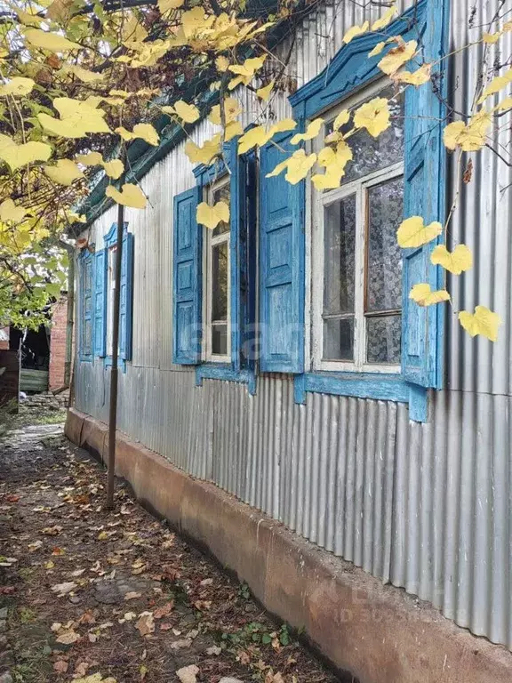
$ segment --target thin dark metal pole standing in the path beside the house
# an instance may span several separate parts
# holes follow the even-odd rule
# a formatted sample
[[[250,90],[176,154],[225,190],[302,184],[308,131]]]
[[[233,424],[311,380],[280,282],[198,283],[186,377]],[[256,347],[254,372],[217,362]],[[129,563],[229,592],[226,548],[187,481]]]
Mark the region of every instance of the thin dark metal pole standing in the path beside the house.
[[[116,422],[117,422],[117,357],[119,350],[119,304],[121,301],[121,262],[123,259],[124,206],[117,207],[117,246],[112,315],[112,368],[110,371],[110,406],[108,410],[108,477],[107,510],[114,509],[114,475],[116,473]]]

